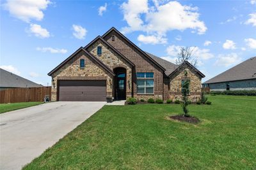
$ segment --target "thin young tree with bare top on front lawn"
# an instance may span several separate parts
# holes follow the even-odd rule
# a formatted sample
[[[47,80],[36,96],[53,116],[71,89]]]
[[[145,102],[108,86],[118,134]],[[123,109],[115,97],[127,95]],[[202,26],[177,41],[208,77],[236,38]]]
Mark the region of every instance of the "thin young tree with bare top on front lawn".
[[[184,117],[189,117],[189,86],[190,80],[188,78],[188,71],[186,70],[186,62],[190,62],[193,66],[196,66],[196,58],[193,57],[193,49],[190,46],[180,47],[180,52],[178,53],[176,64],[180,65],[180,69],[184,71],[184,80],[181,83],[181,94],[182,94],[182,109]]]

